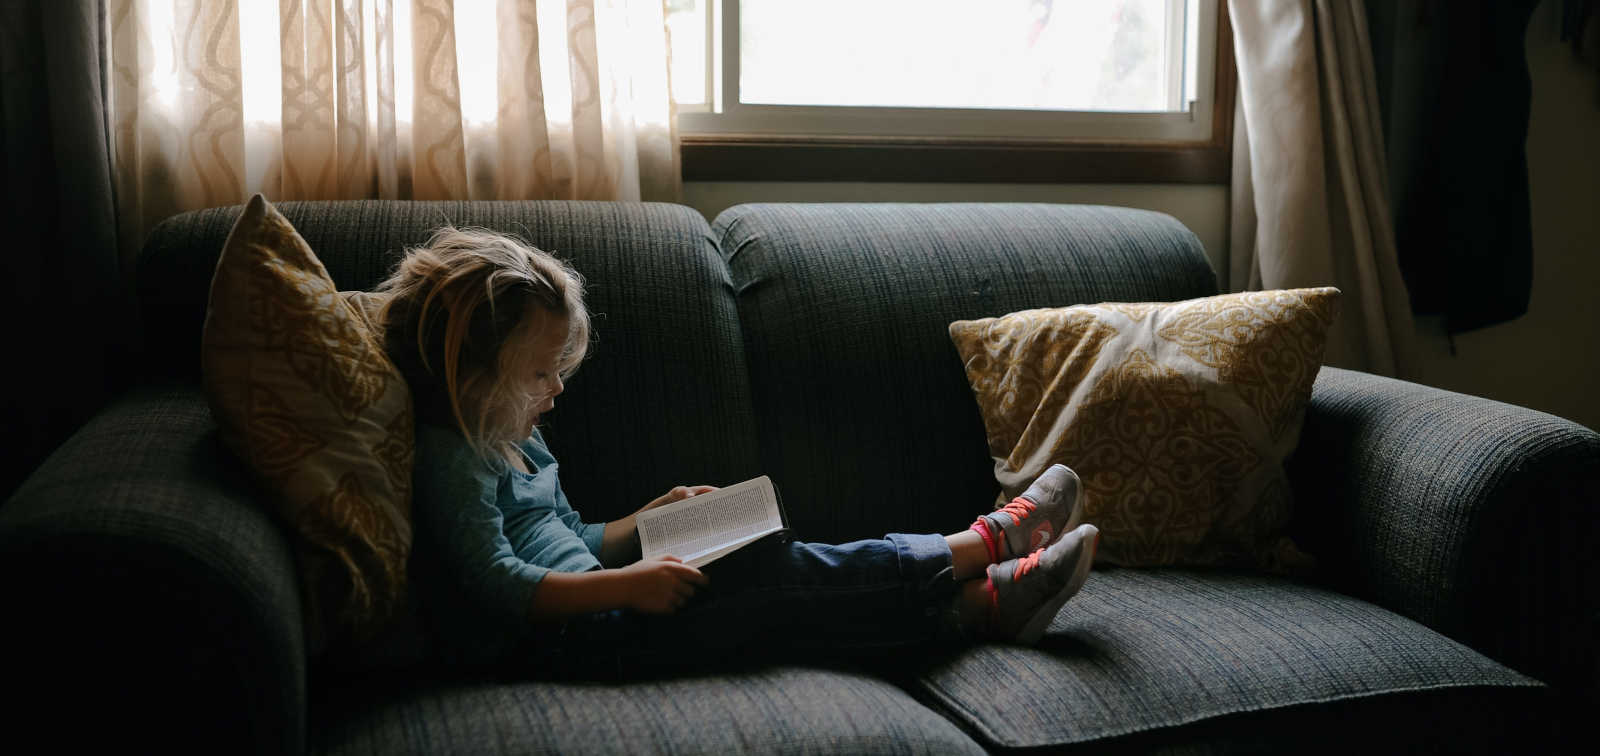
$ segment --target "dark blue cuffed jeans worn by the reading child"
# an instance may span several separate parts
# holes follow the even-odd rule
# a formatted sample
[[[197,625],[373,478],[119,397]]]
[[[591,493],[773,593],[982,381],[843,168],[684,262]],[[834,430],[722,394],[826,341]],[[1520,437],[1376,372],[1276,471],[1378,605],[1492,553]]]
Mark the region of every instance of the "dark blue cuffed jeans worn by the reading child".
[[[536,633],[520,662],[539,676],[629,676],[726,660],[882,657],[960,639],[942,535],[760,541],[702,572],[709,583],[670,615],[568,620]]]

